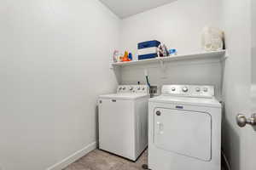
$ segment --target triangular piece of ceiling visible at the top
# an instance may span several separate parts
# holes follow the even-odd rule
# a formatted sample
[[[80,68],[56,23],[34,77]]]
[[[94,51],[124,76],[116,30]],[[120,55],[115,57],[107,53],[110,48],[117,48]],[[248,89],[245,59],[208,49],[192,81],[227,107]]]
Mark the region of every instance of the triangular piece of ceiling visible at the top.
[[[156,8],[177,0],[100,0],[119,18],[126,18],[133,14],[142,13],[148,9]]]

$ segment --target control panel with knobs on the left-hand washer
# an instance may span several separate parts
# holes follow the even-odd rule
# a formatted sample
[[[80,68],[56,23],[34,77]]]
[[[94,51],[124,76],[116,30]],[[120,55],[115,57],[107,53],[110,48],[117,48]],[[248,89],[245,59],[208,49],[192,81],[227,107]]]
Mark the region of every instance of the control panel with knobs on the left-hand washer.
[[[147,85],[119,85],[117,93],[149,94]]]

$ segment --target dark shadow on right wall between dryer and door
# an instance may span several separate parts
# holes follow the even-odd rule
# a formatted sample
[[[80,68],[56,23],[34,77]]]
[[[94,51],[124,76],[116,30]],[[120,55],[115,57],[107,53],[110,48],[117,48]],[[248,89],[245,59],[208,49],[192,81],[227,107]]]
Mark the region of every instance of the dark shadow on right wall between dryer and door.
[[[222,121],[222,148],[224,149],[224,154],[227,159],[233,164],[230,164],[231,170],[240,169],[241,161],[241,141],[240,136],[236,132],[236,129],[232,127],[225,113],[225,108],[223,107],[223,121]],[[232,161],[230,161],[232,160]]]

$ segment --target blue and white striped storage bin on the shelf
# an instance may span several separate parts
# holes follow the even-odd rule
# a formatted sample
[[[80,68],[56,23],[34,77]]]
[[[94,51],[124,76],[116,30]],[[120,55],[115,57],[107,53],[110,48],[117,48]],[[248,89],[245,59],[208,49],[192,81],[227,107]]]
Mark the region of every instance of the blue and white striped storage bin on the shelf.
[[[157,40],[138,43],[138,59],[153,59],[157,57],[157,48],[159,45],[160,42]]]

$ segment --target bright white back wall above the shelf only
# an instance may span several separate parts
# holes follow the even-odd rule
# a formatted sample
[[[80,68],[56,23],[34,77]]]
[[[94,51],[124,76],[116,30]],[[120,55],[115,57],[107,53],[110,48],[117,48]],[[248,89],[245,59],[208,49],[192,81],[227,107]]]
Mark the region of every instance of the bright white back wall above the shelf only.
[[[199,5],[200,4],[200,5]],[[204,26],[219,26],[219,1],[178,0],[122,20],[121,49],[137,54],[137,43],[157,39],[178,54],[200,52]]]

